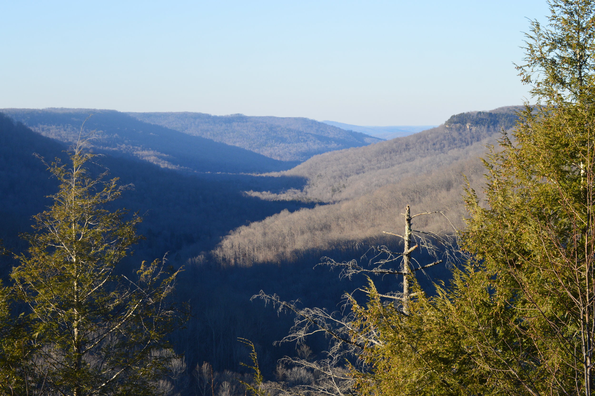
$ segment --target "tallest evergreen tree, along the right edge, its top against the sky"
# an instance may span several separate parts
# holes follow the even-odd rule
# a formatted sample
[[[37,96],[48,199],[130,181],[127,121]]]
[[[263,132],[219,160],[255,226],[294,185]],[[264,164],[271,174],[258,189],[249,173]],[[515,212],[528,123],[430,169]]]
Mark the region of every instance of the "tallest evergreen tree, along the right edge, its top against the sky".
[[[593,392],[595,4],[549,4],[518,67],[540,103],[490,149],[486,202],[468,188],[473,258],[442,304],[494,394]]]

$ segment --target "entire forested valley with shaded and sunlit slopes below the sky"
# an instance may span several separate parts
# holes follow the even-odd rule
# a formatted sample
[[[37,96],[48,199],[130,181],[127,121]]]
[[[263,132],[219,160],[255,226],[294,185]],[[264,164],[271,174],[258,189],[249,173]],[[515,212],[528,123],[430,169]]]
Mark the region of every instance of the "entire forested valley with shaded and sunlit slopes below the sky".
[[[315,267],[321,257],[350,260],[369,245],[398,245],[383,231],[403,226],[399,213],[408,204],[449,219],[417,222],[424,230],[460,227],[463,174],[481,185],[478,158],[513,126],[513,111],[457,114],[439,127],[381,141],[300,118],[5,109],[0,207],[7,209],[0,210],[0,238],[11,250],[24,248],[18,233],[30,229],[57,188],[33,153],[65,158],[93,114],[83,134],[93,133],[90,149],[103,157],[92,172],[107,169],[130,184],[115,207],[144,218],[139,232],[146,239],[120,271],[167,255],[183,267],[177,294],[193,307],[187,326],[171,338],[187,364],[241,371],[245,349],[236,338],[242,337],[258,345],[262,369],[272,375],[278,358],[295,354],[292,345],[273,345],[292,319],[250,297],[265,289],[332,311],[342,292],[365,279],[339,279]],[[13,262],[0,260],[5,277]],[[433,280],[448,277],[447,267],[436,266],[420,283],[431,291]],[[386,290],[397,282],[377,280]],[[324,345],[315,338],[309,347]]]

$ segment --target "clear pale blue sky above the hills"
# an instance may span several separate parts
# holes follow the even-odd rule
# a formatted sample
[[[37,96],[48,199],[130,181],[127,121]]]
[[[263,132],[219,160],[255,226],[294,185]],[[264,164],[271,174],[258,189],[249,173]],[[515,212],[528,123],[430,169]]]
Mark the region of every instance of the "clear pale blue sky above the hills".
[[[0,0],[0,108],[440,124],[520,104],[545,0]]]

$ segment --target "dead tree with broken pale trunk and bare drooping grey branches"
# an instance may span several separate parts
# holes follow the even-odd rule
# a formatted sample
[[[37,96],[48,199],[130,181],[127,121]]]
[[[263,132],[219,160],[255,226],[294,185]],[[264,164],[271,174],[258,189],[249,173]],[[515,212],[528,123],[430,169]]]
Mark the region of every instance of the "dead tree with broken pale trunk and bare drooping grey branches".
[[[360,261],[368,261],[367,268],[361,266],[358,260],[343,261],[338,263],[331,258],[323,257],[322,263],[331,268],[341,268],[340,277],[348,277],[349,279],[356,274],[374,274],[374,275],[395,275],[402,276],[402,291],[388,292],[380,294],[381,297],[389,299],[387,303],[393,303],[403,315],[409,315],[409,301],[415,297],[415,293],[410,292],[412,282],[415,282],[415,273],[418,271],[424,272],[425,269],[433,267],[436,264],[443,263],[445,260],[456,260],[456,255],[453,252],[458,251],[456,248],[456,234],[451,233],[433,233],[420,230],[414,230],[411,226],[411,221],[415,217],[440,214],[444,216],[441,211],[418,213],[411,216],[411,208],[407,205],[405,213],[405,233],[400,235],[393,232],[384,232],[389,235],[397,236],[403,241],[403,251],[394,252],[386,246],[371,246],[367,252],[372,252],[372,258],[367,258],[367,254],[362,256]],[[444,216],[446,217],[446,216]],[[449,222],[452,226],[452,223]],[[452,227],[454,231],[454,227]],[[424,250],[433,261],[427,264],[419,263],[412,252],[415,250]],[[439,255],[443,255],[440,258]],[[399,264],[396,268],[392,264]],[[364,289],[359,291],[367,292]],[[345,294],[343,296],[346,301],[353,301],[352,294]],[[283,383],[271,383],[271,388],[276,389],[282,396],[289,395],[336,395],[345,396],[352,393],[353,378],[345,375],[345,368],[340,367],[340,364],[345,362],[345,358],[351,357],[356,360],[358,351],[369,345],[379,345],[381,341],[374,333],[362,333],[358,329],[353,328],[353,314],[350,312],[349,303],[343,306],[343,311],[328,312],[324,308],[299,308],[297,305],[299,301],[283,301],[278,295],[266,294],[260,291],[259,294],[252,296],[252,299],[262,298],[265,303],[271,303],[278,311],[292,311],[295,314],[294,325],[290,329],[289,335],[284,337],[280,342],[296,341],[298,344],[305,342],[305,339],[314,333],[325,333],[330,339],[330,345],[325,351],[325,357],[321,360],[311,362],[299,358],[285,357],[284,363],[293,364],[296,367],[310,369],[318,373],[320,381],[314,383],[304,384],[299,386],[292,386],[288,388]],[[344,312],[348,311],[347,314]]]

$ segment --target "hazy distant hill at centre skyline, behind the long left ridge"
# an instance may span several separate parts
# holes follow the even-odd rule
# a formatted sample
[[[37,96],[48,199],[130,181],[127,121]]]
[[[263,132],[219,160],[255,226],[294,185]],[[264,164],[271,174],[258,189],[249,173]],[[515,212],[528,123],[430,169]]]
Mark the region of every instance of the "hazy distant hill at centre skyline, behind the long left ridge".
[[[379,142],[364,133],[343,130],[300,117],[211,116],[204,113],[128,113],[139,120],[202,136],[283,161]]]

